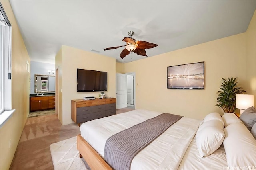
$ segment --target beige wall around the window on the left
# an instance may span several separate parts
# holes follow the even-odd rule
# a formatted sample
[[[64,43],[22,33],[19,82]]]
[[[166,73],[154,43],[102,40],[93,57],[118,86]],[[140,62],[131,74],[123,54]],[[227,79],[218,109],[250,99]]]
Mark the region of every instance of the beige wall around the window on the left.
[[[1,0],[1,4],[12,25],[12,109],[16,109],[0,129],[0,169],[8,170],[29,113],[30,74],[26,61],[30,63],[30,58],[9,1]]]

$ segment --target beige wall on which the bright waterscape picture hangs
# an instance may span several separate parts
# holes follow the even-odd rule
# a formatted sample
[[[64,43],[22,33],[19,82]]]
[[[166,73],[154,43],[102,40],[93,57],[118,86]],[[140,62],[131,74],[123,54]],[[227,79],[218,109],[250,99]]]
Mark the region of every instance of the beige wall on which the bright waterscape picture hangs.
[[[136,109],[174,113],[196,119],[202,119],[215,111],[223,113],[215,106],[221,79],[238,77],[240,85],[246,83],[245,41],[246,35],[241,33],[125,63],[124,72],[136,74]],[[205,64],[204,90],[167,89],[168,66],[200,61]]]

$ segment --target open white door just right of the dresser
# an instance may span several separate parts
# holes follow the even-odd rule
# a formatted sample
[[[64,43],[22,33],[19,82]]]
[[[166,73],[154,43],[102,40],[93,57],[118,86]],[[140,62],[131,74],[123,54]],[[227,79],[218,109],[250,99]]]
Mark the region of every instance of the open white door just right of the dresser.
[[[126,107],[126,74],[116,73],[116,109]]]

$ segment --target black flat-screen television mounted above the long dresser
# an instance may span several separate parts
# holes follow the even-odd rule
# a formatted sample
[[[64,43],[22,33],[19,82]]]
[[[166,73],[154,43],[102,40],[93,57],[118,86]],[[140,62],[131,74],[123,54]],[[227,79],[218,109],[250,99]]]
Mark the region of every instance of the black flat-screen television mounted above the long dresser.
[[[108,90],[108,72],[77,69],[77,92]]]

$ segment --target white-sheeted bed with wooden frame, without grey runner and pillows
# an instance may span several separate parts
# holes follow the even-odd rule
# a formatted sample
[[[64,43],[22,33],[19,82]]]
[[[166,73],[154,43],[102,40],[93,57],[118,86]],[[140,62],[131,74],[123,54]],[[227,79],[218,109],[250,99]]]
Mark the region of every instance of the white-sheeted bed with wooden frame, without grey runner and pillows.
[[[108,138],[161,114],[155,111],[134,110],[83,123],[80,127],[81,134],[77,137],[80,157],[84,157],[91,169],[112,169],[112,166],[104,161],[104,149]],[[208,156],[202,157],[198,154],[196,132],[202,123],[202,120],[182,117],[138,152],[132,159],[130,169],[219,170],[224,167],[228,168],[229,164],[222,141],[221,145]],[[254,144],[256,146],[256,141],[252,142],[252,145]]]

